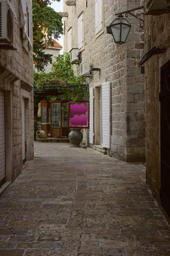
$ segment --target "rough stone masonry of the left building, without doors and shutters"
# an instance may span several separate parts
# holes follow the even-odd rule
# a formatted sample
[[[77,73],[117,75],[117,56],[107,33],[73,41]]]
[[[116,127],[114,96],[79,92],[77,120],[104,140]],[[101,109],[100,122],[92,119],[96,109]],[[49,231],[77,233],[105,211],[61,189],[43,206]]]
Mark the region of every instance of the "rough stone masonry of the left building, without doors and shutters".
[[[30,17],[32,17],[32,1],[28,1]],[[33,88],[33,52],[32,48],[27,52],[23,47],[23,40],[20,32],[20,0],[13,0],[12,7],[14,9],[14,47],[17,50],[1,50],[0,65],[2,65],[10,73],[19,78],[11,85],[12,90],[12,126],[13,126],[13,171],[12,179],[22,170],[22,113],[21,113],[21,83],[24,81],[29,88]],[[32,41],[32,19],[30,18],[30,40]],[[1,77],[0,77],[1,80]],[[1,80],[0,83],[3,81]],[[26,91],[28,93],[28,91]],[[29,127],[26,140],[27,160],[31,160],[34,156],[34,96],[33,90],[29,93]],[[6,134],[6,136],[8,136]]]

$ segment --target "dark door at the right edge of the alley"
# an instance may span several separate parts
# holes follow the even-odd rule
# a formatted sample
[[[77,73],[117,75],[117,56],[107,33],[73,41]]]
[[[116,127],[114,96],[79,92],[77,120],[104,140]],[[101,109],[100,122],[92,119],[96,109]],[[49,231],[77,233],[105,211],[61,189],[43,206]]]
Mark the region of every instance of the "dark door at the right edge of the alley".
[[[170,61],[161,68],[161,206],[170,216]]]

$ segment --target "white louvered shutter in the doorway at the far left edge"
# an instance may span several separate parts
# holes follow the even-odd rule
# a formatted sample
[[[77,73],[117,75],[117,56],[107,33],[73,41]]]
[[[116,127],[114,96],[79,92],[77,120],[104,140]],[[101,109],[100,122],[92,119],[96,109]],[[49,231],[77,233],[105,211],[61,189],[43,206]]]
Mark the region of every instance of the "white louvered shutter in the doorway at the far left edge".
[[[4,92],[0,90],[0,181],[5,178],[5,108]]]

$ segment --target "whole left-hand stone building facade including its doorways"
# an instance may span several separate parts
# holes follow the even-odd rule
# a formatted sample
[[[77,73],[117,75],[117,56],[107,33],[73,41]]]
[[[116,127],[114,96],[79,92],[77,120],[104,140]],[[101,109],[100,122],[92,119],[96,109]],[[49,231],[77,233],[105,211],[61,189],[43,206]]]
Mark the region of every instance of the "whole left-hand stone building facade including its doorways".
[[[0,39],[0,182],[14,180],[34,156],[32,1],[3,2],[13,14],[15,50],[3,49]]]

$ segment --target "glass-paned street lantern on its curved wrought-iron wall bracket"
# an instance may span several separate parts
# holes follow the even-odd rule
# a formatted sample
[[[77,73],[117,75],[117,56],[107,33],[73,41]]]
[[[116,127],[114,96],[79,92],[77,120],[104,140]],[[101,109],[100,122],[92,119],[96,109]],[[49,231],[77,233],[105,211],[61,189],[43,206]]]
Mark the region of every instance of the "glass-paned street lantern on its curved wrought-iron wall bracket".
[[[129,35],[131,25],[127,21],[127,19],[124,18],[123,14],[125,14],[125,17],[128,17],[128,15],[132,15],[133,17],[136,17],[137,19],[141,20],[142,23],[140,24],[141,27],[143,27],[143,18],[136,16],[132,12],[136,10],[143,9],[144,6],[141,6],[139,8],[130,9],[125,12],[119,12],[116,14],[118,18],[113,20],[110,26],[107,26],[107,33],[111,34],[113,36],[113,39],[116,44],[124,44],[126,42],[127,36]]]

